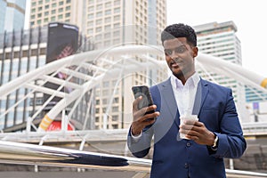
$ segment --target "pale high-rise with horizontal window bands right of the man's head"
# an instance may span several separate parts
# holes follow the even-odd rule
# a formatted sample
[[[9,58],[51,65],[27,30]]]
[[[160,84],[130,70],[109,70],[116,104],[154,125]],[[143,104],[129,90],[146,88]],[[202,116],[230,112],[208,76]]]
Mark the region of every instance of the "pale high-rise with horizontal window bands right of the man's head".
[[[241,45],[236,32],[238,28],[233,21],[223,23],[211,22],[194,27],[198,36],[198,49],[201,53],[207,53],[220,57],[225,61],[242,65]],[[245,86],[231,77],[216,75],[214,72],[207,75],[202,69],[199,69],[202,77],[208,80],[213,80],[220,85],[231,87],[234,100],[237,103],[239,113],[247,113]],[[240,116],[242,119],[248,119],[246,114]]]

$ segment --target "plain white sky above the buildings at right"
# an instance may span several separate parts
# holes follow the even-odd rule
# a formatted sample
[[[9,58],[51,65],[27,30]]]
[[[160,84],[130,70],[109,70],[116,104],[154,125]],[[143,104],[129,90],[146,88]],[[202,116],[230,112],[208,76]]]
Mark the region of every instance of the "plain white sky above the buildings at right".
[[[267,11],[265,0],[166,0],[167,25],[185,23],[197,26],[232,20],[241,42],[245,69],[267,77]]]

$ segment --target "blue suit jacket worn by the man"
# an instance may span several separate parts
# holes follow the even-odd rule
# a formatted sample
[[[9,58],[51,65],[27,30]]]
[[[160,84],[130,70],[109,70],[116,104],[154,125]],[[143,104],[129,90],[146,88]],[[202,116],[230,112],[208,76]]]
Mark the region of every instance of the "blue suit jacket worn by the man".
[[[200,79],[193,113],[206,128],[219,137],[218,148],[180,139],[180,114],[170,79],[150,87],[160,116],[134,141],[129,133],[128,148],[137,158],[150,151],[154,136],[154,152],[150,176],[153,178],[221,178],[226,177],[223,158],[239,158],[246,150],[239,117],[231,89]]]

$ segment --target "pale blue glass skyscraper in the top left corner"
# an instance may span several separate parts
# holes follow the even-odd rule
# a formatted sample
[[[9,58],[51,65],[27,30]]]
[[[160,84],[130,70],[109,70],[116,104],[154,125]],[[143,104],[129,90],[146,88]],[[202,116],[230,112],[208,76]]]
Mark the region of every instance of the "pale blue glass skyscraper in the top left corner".
[[[0,0],[0,33],[24,28],[26,0]]]

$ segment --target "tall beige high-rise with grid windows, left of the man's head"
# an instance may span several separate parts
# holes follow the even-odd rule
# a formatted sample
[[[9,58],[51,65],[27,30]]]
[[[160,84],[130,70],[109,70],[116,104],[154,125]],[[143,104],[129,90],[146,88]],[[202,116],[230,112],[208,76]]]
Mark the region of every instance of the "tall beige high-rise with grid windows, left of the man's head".
[[[166,27],[166,0],[31,1],[30,27],[53,21],[77,25],[95,49],[122,44],[160,44],[160,32]],[[127,127],[131,121],[126,110],[132,108],[133,95],[128,93],[131,86],[152,85],[165,77],[166,72],[144,70],[131,77],[103,80],[96,90],[95,127]]]

